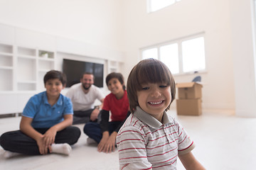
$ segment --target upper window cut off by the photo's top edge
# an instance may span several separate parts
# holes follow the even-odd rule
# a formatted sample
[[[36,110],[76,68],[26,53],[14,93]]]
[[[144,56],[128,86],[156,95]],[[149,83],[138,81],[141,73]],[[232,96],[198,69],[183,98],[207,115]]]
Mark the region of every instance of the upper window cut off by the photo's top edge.
[[[181,0],[148,0],[148,12],[154,12],[161,8],[165,8],[166,6],[170,6],[172,4],[175,4],[176,2]]]

